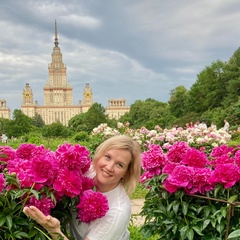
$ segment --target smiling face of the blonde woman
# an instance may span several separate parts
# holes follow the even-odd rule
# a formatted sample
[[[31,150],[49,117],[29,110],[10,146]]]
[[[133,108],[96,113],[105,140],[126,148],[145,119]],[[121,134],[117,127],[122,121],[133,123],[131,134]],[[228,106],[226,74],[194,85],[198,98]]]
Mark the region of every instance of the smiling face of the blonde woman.
[[[109,149],[100,157],[95,165],[94,178],[97,190],[108,192],[119,184],[128,170],[131,153],[125,149]]]

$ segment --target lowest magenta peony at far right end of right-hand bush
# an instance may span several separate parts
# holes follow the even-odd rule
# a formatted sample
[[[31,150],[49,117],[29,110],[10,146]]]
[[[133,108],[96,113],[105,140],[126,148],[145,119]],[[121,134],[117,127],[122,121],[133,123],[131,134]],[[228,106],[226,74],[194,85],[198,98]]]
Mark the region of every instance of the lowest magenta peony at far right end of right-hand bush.
[[[210,183],[223,184],[225,188],[232,187],[240,179],[240,169],[238,166],[227,163],[216,166],[209,178]]]

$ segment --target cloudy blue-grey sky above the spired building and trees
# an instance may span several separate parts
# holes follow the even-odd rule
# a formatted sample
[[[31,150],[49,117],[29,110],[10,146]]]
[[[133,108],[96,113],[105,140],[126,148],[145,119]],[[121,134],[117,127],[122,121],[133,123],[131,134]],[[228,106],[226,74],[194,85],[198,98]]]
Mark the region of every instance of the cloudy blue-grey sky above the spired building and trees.
[[[104,107],[168,102],[240,45],[239,0],[1,0],[0,99],[11,113],[26,83],[43,105],[55,20],[74,105],[87,83]]]

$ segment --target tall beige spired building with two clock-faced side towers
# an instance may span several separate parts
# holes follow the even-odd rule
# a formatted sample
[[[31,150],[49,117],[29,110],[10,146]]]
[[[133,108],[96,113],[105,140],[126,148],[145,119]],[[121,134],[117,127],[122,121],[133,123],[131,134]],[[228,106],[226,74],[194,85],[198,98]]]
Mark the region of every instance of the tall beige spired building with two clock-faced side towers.
[[[62,61],[62,53],[58,46],[57,25],[55,22],[55,41],[52,52],[52,62],[48,66],[48,80],[43,88],[44,105],[40,106],[34,101],[34,96],[29,83],[22,91],[22,112],[34,117],[39,114],[45,124],[61,122],[67,125],[68,121],[77,114],[87,112],[93,104],[93,92],[87,83],[82,101],[73,105],[72,87],[67,81],[67,68]]]

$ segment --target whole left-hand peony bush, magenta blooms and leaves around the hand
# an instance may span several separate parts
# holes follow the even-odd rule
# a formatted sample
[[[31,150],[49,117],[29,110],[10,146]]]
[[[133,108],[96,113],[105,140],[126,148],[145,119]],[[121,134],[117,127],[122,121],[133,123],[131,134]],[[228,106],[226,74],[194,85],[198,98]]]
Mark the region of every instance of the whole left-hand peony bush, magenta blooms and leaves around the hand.
[[[107,198],[93,191],[93,180],[84,176],[91,165],[89,156],[79,144],[64,143],[55,152],[34,144],[16,150],[0,147],[0,239],[48,238],[22,212],[28,205],[59,218],[66,235],[72,211],[78,211],[83,222],[103,217]]]

